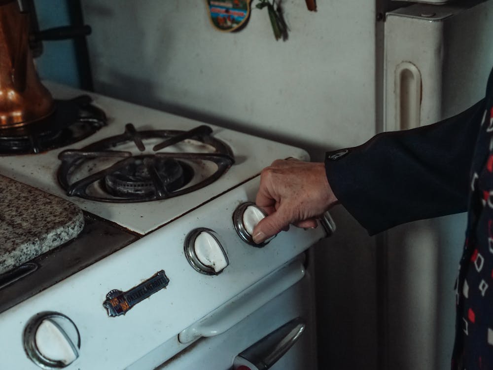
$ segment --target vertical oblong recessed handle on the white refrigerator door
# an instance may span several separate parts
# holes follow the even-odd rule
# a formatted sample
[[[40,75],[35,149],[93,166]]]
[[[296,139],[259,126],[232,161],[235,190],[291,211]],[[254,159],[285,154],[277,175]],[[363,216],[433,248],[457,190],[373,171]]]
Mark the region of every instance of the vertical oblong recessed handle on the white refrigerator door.
[[[413,63],[395,68],[395,123],[397,130],[419,127],[421,120],[421,72]]]

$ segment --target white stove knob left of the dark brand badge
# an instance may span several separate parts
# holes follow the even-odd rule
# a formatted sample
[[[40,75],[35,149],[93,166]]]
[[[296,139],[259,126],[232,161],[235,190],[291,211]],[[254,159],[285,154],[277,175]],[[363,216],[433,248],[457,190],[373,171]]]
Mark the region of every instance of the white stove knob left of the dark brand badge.
[[[62,369],[79,357],[79,332],[67,316],[42,312],[26,325],[24,348],[40,368]]]

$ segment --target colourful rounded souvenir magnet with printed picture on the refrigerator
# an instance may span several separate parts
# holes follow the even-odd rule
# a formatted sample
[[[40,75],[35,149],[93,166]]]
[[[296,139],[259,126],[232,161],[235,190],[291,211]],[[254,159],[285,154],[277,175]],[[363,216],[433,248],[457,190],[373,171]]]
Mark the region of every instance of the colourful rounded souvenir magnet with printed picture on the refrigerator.
[[[220,31],[239,31],[250,17],[251,0],[207,0],[211,22]]]

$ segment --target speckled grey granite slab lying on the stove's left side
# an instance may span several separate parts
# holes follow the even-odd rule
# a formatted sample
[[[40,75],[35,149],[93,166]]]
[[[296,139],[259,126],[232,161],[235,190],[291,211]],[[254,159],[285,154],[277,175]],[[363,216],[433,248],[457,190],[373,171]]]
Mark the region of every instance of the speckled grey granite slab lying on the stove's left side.
[[[62,245],[83,227],[75,204],[0,175],[0,273]]]

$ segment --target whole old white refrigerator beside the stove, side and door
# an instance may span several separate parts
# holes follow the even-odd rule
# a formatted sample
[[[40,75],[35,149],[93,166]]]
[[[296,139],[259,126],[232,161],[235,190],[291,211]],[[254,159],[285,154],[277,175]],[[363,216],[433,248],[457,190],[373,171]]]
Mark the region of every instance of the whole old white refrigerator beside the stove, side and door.
[[[452,116],[484,95],[493,0],[323,0],[317,12],[282,0],[285,41],[257,2],[240,32],[225,33],[206,0],[81,1],[92,83],[79,75],[79,84],[296,145],[312,160]],[[55,12],[35,3],[44,28]],[[46,43],[39,74],[70,84],[55,46]],[[337,232],[312,250],[319,369],[449,369],[465,216],[369,237],[343,207],[332,215]]]

